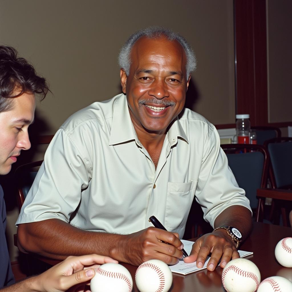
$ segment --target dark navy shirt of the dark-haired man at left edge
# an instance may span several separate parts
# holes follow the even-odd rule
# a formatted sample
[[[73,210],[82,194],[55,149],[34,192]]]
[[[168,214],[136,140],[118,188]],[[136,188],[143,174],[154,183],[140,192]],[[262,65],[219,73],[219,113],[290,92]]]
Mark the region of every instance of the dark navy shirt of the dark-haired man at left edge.
[[[11,264],[5,237],[6,207],[3,196],[3,189],[0,185],[0,289],[4,286],[9,286],[15,283],[14,276],[11,270]]]

